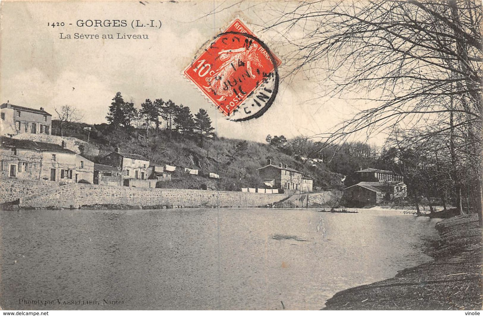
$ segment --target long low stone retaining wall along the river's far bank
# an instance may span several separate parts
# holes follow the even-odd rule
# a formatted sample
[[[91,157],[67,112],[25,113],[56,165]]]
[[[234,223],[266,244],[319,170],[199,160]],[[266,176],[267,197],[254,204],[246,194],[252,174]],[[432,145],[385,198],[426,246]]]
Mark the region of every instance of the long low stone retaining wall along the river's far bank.
[[[20,199],[24,207],[79,208],[93,204],[167,205],[184,207],[256,207],[287,198],[284,194],[190,189],[156,189],[69,184]]]

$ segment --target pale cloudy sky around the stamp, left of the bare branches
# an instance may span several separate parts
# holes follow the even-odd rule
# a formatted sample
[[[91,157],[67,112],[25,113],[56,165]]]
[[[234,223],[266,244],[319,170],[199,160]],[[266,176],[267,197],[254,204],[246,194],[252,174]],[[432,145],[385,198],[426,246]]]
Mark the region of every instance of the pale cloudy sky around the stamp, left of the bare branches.
[[[286,2],[271,2],[286,10]],[[282,59],[289,54],[275,32],[262,31],[272,16],[252,1],[2,1],[0,103],[40,108],[71,105],[90,124],[106,122],[117,91],[139,107],[145,99],[172,100],[192,113],[208,111],[218,136],[264,142],[268,134],[313,136],[347,119],[349,99],[317,99],[318,78],[296,75],[261,117],[233,122],[219,113],[182,72],[205,43],[240,17]],[[161,21],[161,28],[79,27],[78,20]],[[48,23],[65,25],[51,27]],[[69,24],[72,25],[69,25]],[[297,30],[294,30],[297,32]],[[148,40],[61,39],[79,34],[147,34]],[[294,34],[295,36],[299,34]]]

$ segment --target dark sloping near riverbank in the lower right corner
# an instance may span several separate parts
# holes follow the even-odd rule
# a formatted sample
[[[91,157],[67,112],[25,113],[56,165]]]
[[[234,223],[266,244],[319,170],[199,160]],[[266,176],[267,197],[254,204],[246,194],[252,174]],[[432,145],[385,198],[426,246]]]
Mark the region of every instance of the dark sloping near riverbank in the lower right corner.
[[[399,271],[391,279],[336,293],[324,310],[481,310],[482,230],[478,216],[436,224],[434,261]]]

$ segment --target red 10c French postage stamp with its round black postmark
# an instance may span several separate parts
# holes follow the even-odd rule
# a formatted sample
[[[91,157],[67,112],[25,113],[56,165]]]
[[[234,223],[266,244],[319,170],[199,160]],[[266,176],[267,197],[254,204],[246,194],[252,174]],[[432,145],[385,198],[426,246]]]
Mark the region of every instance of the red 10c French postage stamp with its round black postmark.
[[[280,64],[281,60],[236,19],[184,73],[225,115],[243,105],[238,120],[245,120],[270,107],[278,88]]]

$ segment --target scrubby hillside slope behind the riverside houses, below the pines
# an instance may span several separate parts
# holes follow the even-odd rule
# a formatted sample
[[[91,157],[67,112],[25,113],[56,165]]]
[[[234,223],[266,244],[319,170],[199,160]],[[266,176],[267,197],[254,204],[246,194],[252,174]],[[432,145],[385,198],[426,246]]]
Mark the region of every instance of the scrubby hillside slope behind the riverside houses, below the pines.
[[[63,136],[87,140],[83,123],[71,123],[63,128]],[[53,121],[53,134],[59,134],[58,122]],[[239,190],[240,187],[260,187],[263,179],[257,169],[271,159],[273,164],[282,163],[304,172],[314,179],[315,187],[320,189],[341,188],[342,176],[330,172],[324,163],[307,163],[287,155],[276,146],[237,139],[214,137],[201,144],[196,136],[185,137],[177,132],[132,129],[130,131],[112,130],[107,124],[94,125],[89,135],[89,143],[99,147],[99,157],[87,157],[101,163],[102,157],[114,151],[116,145],[120,152],[135,153],[149,158],[155,164],[170,164],[199,169],[199,175],[189,175],[176,171],[172,181],[158,183],[166,188],[193,188]],[[179,168],[178,168],[179,169]],[[214,172],[220,179],[208,178]]]

